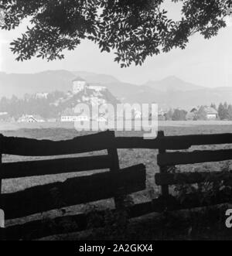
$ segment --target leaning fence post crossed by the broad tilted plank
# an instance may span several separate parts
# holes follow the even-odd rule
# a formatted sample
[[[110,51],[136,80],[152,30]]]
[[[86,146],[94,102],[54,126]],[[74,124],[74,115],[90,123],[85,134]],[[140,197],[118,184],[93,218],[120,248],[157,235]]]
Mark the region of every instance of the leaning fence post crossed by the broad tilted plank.
[[[109,137],[111,139],[112,145],[111,148],[107,148],[107,153],[111,157],[111,172],[115,175],[119,174],[120,166],[119,166],[119,159],[118,159],[118,150],[115,147],[115,134],[114,131],[108,131]],[[117,210],[122,210],[125,208],[125,192],[124,188],[120,187],[120,184],[114,184],[117,189],[115,189],[114,194],[114,204]]]

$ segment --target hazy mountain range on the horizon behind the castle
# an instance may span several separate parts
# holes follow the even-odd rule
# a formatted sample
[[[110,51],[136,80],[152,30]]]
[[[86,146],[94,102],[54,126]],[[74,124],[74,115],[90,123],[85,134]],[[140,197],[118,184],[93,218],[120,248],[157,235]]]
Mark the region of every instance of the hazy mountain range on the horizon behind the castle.
[[[121,102],[155,102],[172,108],[192,108],[212,102],[232,103],[232,87],[202,87],[173,76],[135,85],[122,82],[111,75],[67,70],[47,70],[40,73],[0,72],[0,97],[72,90],[72,80],[75,77],[82,77],[88,83],[103,84]]]

